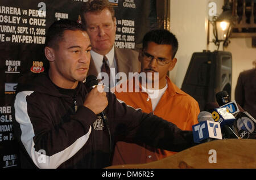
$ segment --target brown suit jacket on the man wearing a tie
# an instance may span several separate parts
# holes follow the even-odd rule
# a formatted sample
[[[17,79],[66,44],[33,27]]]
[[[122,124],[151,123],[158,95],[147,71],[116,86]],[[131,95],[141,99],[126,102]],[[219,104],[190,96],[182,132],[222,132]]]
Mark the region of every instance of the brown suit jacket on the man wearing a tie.
[[[121,49],[114,48],[115,61],[117,62],[118,72],[125,72],[128,78],[129,72],[138,72],[141,70],[141,63],[138,60],[139,53],[132,49]],[[90,67],[87,75],[95,75],[97,77],[98,73],[93,61],[93,58],[90,57]]]

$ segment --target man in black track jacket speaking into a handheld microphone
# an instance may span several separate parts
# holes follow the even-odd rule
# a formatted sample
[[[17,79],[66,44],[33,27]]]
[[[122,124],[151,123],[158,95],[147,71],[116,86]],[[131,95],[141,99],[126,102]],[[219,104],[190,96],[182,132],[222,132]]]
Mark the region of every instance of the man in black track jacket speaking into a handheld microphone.
[[[101,85],[88,92],[82,80],[90,49],[79,23],[59,20],[49,28],[44,49],[49,72],[20,83],[13,106],[21,168],[104,168],[118,140],[170,151],[195,145],[191,131],[127,106]]]

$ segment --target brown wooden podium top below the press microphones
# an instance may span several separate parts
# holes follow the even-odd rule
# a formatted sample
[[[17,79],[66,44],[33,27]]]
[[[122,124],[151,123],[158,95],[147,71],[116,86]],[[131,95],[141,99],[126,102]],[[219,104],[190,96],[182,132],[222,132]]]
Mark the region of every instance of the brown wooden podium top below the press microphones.
[[[133,158],[133,157],[131,157]],[[195,145],[147,164],[109,166],[107,169],[256,168],[255,139],[225,139]]]

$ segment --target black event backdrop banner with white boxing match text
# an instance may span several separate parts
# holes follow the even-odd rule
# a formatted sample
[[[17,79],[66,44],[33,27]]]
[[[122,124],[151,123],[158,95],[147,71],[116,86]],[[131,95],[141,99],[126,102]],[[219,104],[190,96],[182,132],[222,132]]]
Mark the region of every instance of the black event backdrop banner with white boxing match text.
[[[49,25],[60,19],[81,22],[80,7],[86,1],[0,1],[0,168],[19,168],[11,109],[20,76],[46,70],[43,47]],[[117,18],[115,46],[137,49],[144,33],[157,27],[155,0],[109,1]]]

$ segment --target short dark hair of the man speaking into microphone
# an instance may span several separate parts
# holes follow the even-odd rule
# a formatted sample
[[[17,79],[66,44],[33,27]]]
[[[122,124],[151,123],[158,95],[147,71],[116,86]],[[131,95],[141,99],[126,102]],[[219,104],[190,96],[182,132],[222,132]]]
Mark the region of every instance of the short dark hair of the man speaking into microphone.
[[[63,38],[64,31],[86,31],[80,23],[70,19],[61,19],[54,22],[46,33],[46,43],[44,46],[59,48],[59,41]]]

